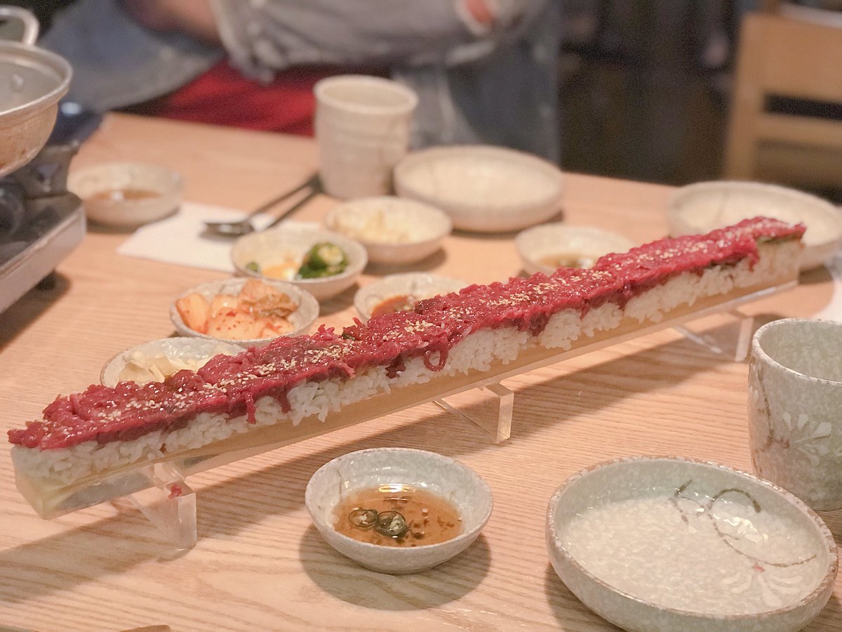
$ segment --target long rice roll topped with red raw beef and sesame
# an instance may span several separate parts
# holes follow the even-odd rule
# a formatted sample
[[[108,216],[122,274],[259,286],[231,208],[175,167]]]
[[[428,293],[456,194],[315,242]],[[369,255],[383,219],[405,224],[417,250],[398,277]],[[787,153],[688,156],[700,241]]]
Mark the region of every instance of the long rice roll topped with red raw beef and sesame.
[[[755,218],[421,301],[341,331],[280,337],[163,383],[62,395],[8,431],[19,484],[76,485],[208,447],[278,442],[346,410],[445,393],[501,367],[627,335],[797,278],[802,225]],[[421,401],[423,399],[418,399]],[[309,428],[310,426],[306,426]],[[246,441],[248,444],[248,441]]]

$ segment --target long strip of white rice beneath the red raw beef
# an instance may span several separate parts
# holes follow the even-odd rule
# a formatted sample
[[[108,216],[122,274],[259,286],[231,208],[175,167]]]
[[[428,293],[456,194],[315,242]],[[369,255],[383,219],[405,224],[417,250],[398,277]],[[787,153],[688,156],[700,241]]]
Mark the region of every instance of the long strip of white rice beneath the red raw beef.
[[[287,397],[291,410],[285,413],[278,401],[263,397],[255,403],[256,423],[249,424],[245,415],[232,419],[225,415],[200,413],[188,426],[174,431],[155,431],[132,441],[115,441],[100,445],[95,441],[57,450],[40,450],[13,446],[12,458],[19,474],[34,479],[48,479],[57,485],[68,485],[91,474],[131,463],[144,463],[173,453],[202,447],[263,426],[289,423],[297,426],[302,420],[317,423],[343,406],[389,393],[408,384],[429,382],[444,376],[488,371],[493,363],[508,364],[522,351],[534,346],[569,350],[573,344],[597,331],[616,329],[626,319],[639,323],[657,323],[679,306],[692,306],[705,297],[727,294],[735,288],[764,287],[780,279],[783,272],[797,265],[800,244],[785,241],[759,247],[760,260],[754,267],[748,260],[737,265],[715,266],[701,275],[684,273],[662,285],[633,297],[625,308],[605,303],[590,309],[584,316],[576,309],[563,309],[552,315],[539,335],[518,331],[515,327],[481,329],[466,336],[450,350],[441,372],[430,371],[420,357],[406,362],[397,377],[389,378],[385,367],[370,367],[342,380],[306,382],[291,388]],[[437,357],[432,357],[435,363]]]

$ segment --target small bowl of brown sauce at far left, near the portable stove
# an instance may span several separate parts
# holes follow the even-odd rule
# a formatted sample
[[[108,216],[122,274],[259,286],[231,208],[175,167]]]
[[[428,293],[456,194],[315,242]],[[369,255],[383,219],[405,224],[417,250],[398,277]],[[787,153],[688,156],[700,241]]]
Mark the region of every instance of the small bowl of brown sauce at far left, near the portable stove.
[[[179,208],[182,179],[160,164],[103,163],[72,171],[67,189],[82,198],[85,215],[93,222],[136,228]]]

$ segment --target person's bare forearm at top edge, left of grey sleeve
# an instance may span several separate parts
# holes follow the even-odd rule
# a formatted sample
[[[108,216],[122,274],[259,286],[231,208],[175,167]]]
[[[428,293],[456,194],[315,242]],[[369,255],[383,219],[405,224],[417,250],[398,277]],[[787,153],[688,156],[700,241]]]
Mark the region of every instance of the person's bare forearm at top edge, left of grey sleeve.
[[[162,31],[180,31],[213,43],[219,42],[210,0],[122,0],[137,24]]]

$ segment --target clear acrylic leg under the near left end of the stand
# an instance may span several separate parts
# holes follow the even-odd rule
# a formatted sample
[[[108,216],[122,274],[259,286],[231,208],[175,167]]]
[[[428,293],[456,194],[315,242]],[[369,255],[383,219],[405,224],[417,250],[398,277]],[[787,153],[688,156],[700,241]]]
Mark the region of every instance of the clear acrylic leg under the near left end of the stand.
[[[196,544],[195,492],[172,463],[155,463],[144,474],[152,487],[129,495],[129,501],[176,548],[192,549]]]

